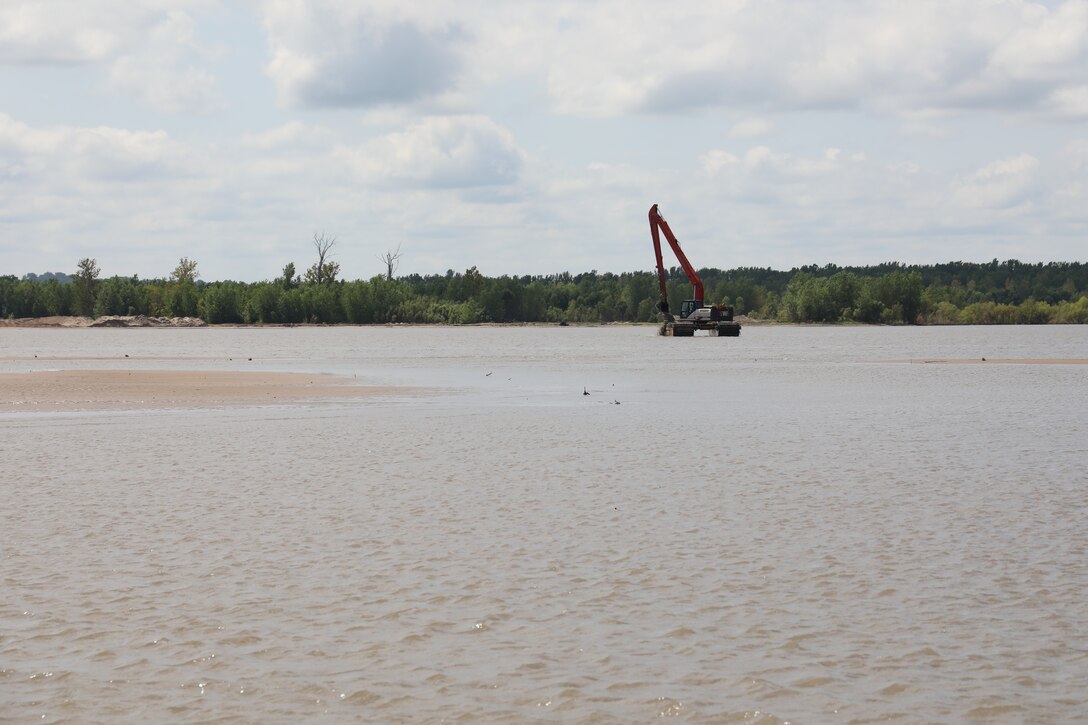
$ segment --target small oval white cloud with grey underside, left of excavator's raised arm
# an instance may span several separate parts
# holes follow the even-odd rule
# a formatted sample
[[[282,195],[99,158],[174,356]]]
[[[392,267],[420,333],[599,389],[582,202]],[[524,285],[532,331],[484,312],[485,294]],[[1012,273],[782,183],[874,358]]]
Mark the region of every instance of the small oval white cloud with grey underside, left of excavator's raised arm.
[[[523,160],[510,133],[479,115],[424,119],[343,152],[370,182],[445,188],[511,184]]]

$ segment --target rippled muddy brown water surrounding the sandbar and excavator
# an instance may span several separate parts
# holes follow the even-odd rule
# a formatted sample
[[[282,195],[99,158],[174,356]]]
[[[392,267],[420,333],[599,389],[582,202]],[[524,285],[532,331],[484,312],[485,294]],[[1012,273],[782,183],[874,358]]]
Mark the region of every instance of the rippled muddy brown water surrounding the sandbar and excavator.
[[[1088,711],[1088,366],[880,362],[1088,358],[1084,329],[0,343],[3,371],[297,370],[438,391],[0,417],[0,720]]]

